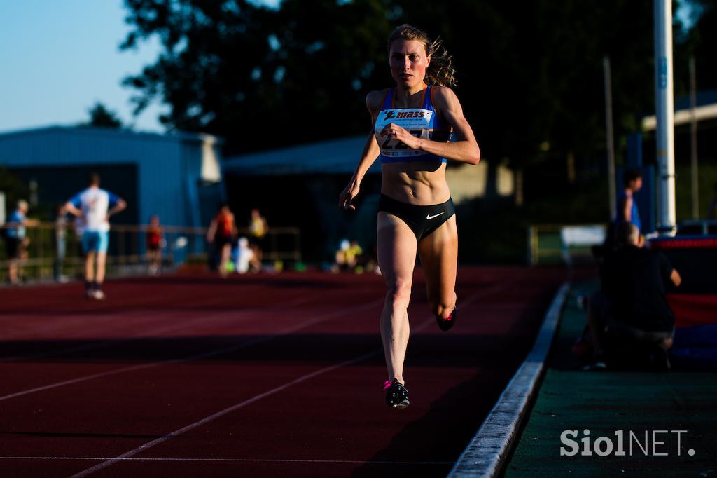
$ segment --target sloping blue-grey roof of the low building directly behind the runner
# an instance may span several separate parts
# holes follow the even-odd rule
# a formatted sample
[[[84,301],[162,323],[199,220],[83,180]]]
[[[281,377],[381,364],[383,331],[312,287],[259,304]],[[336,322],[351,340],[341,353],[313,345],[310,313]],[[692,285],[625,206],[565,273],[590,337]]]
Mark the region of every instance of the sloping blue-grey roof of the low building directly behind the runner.
[[[361,159],[366,135],[331,139],[290,148],[233,156],[222,162],[224,174],[278,176],[291,174],[351,174]],[[379,161],[369,172],[381,172]]]

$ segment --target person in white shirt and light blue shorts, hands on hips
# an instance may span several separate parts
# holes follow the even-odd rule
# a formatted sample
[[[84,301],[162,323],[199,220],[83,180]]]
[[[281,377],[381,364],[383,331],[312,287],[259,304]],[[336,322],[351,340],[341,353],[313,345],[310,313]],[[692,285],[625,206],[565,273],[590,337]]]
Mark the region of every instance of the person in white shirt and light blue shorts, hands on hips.
[[[90,186],[65,203],[65,210],[82,220],[82,253],[85,254],[87,299],[105,299],[102,284],[105,281],[107,247],[110,243],[110,216],[126,207],[127,203],[121,197],[100,189],[99,174],[92,174]]]

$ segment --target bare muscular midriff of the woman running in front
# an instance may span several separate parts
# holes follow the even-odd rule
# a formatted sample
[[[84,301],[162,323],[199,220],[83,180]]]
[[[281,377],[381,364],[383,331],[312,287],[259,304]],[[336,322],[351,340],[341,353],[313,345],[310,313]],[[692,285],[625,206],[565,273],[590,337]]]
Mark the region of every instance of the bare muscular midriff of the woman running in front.
[[[429,206],[450,199],[446,164],[405,161],[381,164],[381,193],[413,205]]]

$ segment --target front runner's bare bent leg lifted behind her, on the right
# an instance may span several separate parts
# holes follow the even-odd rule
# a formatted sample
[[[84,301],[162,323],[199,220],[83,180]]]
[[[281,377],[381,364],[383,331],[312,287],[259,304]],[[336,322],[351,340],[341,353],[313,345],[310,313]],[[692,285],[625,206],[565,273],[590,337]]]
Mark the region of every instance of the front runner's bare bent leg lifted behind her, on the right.
[[[458,230],[455,215],[418,243],[421,267],[431,311],[447,319],[455,308],[455,276],[458,268]]]

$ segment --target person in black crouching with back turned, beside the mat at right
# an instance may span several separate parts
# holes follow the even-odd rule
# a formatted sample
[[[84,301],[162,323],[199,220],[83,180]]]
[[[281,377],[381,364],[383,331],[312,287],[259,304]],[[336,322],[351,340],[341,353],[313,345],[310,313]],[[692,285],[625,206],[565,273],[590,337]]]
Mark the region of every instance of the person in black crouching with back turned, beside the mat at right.
[[[635,365],[632,352],[652,355],[652,365],[669,368],[675,315],[665,299],[668,286],[682,279],[661,253],[640,248],[640,233],[630,222],[617,227],[618,248],[600,268],[601,289],[590,296],[588,327],[594,361],[586,370]]]

